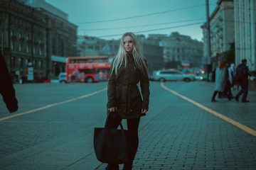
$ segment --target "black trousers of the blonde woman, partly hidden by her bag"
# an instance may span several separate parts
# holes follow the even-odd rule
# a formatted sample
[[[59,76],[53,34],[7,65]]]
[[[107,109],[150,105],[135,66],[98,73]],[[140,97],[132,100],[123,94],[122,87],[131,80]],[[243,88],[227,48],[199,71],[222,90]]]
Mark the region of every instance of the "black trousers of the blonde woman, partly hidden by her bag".
[[[139,120],[140,118],[127,119],[129,164],[132,164],[139,146]],[[121,121],[121,118],[114,118],[109,116],[109,118],[107,119],[106,126],[107,128],[117,128]]]

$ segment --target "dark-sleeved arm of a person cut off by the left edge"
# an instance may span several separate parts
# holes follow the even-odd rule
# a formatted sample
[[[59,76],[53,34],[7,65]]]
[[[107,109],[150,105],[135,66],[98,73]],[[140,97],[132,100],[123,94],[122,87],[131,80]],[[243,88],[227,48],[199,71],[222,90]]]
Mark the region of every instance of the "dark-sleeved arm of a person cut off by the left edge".
[[[11,76],[8,72],[6,62],[4,61],[4,57],[1,52],[0,73],[0,94],[3,96],[4,103],[6,103],[6,107],[8,108],[9,112],[13,113],[18,110],[18,101],[15,96],[15,90]]]

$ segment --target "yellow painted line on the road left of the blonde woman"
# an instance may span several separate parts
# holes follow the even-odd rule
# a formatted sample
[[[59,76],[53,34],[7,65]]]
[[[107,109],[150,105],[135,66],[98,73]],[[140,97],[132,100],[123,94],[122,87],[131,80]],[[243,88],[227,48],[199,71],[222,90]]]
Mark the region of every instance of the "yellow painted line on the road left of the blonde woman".
[[[102,90],[100,90],[100,91],[95,91],[95,92],[93,92],[93,93],[91,93],[91,94],[85,94],[84,96],[80,96],[80,97],[77,97],[77,98],[72,98],[72,99],[69,99],[69,100],[67,100],[67,101],[60,101],[60,102],[58,102],[58,103],[49,104],[49,105],[47,105],[47,106],[43,106],[43,107],[41,107],[41,108],[36,108],[36,109],[31,110],[31,111],[26,111],[26,112],[23,112],[23,113],[17,113],[17,114],[15,114],[15,115],[9,115],[9,116],[6,116],[6,117],[4,117],[4,118],[0,118],[0,121],[8,120],[8,119],[11,119],[11,118],[16,118],[16,117],[18,117],[18,116],[26,115],[26,114],[29,114],[29,113],[35,113],[35,112],[37,112],[37,111],[45,110],[46,108],[52,108],[52,107],[54,107],[54,106],[58,106],[58,105],[60,105],[60,104],[69,103],[69,102],[72,102],[72,101],[78,101],[78,100],[80,100],[80,99],[82,99],[82,98],[87,98],[87,97],[93,96],[93,95],[95,95],[95,94],[99,94],[99,93],[101,93],[102,91],[106,91],[106,90],[107,90],[107,88],[102,89]]]

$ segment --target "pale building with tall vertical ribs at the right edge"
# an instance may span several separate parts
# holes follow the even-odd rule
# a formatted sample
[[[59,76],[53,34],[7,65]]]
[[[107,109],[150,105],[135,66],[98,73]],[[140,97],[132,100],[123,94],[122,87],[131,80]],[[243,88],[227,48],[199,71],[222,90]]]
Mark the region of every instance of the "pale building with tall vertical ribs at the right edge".
[[[256,1],[234,0],[235,63],[247,59],[250,70],[256,71]]]

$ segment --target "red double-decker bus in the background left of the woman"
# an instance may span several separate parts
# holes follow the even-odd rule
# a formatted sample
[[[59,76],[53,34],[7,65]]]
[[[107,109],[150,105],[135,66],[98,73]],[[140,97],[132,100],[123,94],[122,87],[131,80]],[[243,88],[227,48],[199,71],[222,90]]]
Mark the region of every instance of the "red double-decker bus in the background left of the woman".
[[[68,57],[66,77],[68,82],[107,81],[114,56]]]

